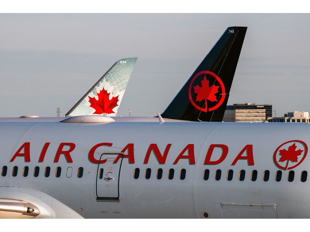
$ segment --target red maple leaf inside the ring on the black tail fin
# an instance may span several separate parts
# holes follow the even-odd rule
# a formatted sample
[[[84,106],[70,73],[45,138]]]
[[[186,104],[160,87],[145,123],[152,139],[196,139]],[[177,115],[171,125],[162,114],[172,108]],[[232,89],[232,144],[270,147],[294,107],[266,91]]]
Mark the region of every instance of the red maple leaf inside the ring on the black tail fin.
[[[209,86],[209,81],[206,76],[201,81],[201,87],[199,85],[193,86],[194,93],[197,93],[196,101],[217,101],[215,94],[219,92],[219,86]]]

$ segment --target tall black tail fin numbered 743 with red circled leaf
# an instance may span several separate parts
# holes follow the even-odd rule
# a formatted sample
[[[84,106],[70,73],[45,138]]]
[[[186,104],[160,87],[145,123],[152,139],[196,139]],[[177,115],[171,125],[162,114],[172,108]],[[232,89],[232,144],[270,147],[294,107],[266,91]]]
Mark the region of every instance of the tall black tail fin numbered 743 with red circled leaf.
[[[162,113],[163,118],[221,122],[246,27],[229,27]]]

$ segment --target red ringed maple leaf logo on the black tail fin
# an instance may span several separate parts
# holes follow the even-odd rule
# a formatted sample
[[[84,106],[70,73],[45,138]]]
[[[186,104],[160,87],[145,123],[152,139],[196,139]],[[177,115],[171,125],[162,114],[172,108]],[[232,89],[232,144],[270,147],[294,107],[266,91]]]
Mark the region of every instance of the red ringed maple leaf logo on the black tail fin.
[[[203,112],[219,108],[223,104],[225,96],[223,81],[211,71],[198,72],[189,84],[189,101],[196,109]],[[212,105],[213,103],[213,105],[209,107],[208,101],[209,104]]]

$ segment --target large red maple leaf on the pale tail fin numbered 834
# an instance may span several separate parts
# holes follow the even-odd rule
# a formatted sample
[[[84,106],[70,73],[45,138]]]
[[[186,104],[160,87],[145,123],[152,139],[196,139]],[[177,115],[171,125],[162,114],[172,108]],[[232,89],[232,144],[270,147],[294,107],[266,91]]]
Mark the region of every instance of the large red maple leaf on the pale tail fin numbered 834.
[[[110,100],[110,93],[104,88],[97,94],[98,100],[95,97],[89,97],[90,107],[95,109],[93,114],[115,114],[113,108],[118,106],[118,97],[112,97]]]

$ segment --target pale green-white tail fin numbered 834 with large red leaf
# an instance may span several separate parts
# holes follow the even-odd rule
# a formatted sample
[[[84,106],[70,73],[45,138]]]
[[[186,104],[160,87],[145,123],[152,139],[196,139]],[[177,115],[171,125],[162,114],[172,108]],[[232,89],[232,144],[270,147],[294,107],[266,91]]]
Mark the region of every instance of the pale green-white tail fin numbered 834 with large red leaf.
[[[117,61],[66,116],[115,116],[137,58]]]

